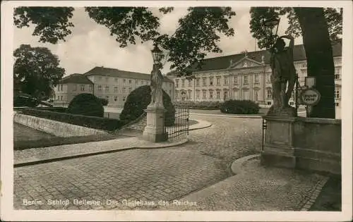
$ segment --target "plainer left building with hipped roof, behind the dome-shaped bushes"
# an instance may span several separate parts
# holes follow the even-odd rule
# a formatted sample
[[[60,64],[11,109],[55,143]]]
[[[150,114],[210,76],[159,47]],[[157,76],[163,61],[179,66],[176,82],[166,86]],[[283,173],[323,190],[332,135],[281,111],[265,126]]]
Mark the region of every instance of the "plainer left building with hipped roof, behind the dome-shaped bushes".
[[[123,108],[128,94],[142,85],[150,85],[150,74],[115,68],[95,67],[84,74],[68,75],[54,88],[54,104],[68,105],[77,94],[91,93],[108,100],[108,106]],[[163,90],[174,100],[174,82],[167,77]]]

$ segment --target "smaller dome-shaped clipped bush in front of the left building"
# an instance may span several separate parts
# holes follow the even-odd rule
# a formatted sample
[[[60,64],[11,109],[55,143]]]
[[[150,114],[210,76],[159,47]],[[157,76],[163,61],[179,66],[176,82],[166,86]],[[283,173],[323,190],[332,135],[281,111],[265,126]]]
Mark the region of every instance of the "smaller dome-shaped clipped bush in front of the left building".
[[[104,108],[100,99],[93,94],[83,93],[74,97],[68,104],[67,113],[83,116],[104,116]]]

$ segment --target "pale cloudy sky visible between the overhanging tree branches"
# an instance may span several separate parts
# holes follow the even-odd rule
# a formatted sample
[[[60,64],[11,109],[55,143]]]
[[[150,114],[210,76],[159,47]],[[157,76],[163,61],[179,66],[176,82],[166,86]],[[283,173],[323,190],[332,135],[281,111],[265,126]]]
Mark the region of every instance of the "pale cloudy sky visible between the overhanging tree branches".
[[[232,8],[237,13],[229,21],[229,27],[234,28],[233,37],[221,37],[218,45],[222,53],[210,53],[206,58],[238,54],[241,51],[254,51],[255,39],[251,37],[250,7]],[[156,16],[160,17],[160,33],[172,35],[178,27],[178,20],[187,13],[186,8],[174,8],[172,13],[163,15],[157,8],[151,8]],[[75,8],[71,22],[75,27],[71,28],[72,34],[66,38],[66,42],[57,44],[38,42],[39,37],[32,36],[33,26],[21,29],[14,26],[14,49],[20,44],[30,44],[31,47],[47,47],[53,54],[59,56],[61,68],[65,68],[66,74],[85,73],[95,66],[117,68],[138,73],[150,73],[152,70],[151,42],[120,48],[114,37],[109,35],[109,30],[103,25],[95,23],[89,18],[84,8]],[[287,18],[281,18],[278,28],[279,35],[285,35],[288,22]],[[302,44],[301,37],[295,39],[295,44]],[[162,73],[169,72],[170,63],[165,63]]]

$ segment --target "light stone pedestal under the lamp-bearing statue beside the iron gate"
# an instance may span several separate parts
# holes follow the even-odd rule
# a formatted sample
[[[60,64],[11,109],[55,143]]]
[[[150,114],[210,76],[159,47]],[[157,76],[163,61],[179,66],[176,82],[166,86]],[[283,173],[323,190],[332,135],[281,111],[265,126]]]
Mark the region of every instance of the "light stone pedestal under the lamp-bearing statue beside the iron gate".
[[[147,125],[143,130],[143,140],[150,142],[164,142],[168,134],[164,132],[164,108],[160,106],[148,106],[145,109],[147,113]]]

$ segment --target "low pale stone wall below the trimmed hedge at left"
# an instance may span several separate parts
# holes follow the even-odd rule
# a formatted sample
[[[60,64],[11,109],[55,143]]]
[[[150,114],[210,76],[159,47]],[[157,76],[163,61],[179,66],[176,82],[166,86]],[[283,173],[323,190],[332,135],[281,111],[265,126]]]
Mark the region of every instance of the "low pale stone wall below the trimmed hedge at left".
[[[47,118],[38,118],[35,116],[28,116],[20,113],[15,113],[13,121],[26,125],[36,130],[41,130],[57,137],[75,137],[87,136],[97,134],[108,134],[104,130],[97,130],[93,128],[86,128],[80,125],[73,125],[69,123],[62,123],[59,121],[52,121]]]

